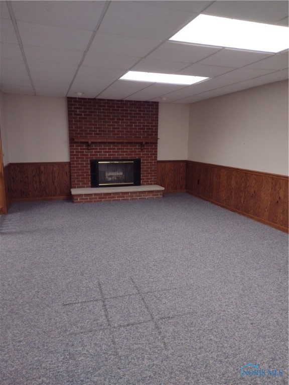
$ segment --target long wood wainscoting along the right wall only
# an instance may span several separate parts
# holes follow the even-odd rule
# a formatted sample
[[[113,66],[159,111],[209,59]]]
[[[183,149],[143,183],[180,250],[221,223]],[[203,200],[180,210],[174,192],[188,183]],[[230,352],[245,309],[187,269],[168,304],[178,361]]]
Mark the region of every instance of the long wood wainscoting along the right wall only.
[[[288,231],[288,177],[187,161],[186,190],[229,210]]]

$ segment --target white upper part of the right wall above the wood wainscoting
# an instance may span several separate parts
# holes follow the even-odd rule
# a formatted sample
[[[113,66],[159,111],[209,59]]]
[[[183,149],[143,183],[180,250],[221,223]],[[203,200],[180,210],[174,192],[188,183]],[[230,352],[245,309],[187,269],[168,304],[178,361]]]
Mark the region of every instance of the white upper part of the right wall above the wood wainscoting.
[[[288,175],[288,82],[190,105],[188,160]]]

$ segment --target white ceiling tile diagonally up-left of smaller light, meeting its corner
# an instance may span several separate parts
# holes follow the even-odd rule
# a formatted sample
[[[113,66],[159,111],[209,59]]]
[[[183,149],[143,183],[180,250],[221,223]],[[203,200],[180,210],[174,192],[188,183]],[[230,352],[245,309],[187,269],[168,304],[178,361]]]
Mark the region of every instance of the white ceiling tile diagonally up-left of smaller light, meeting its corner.
[[[112,54],[90,54],[88,53],[83,61],[86,67],[105,67],[112,70],[125,70],[132,67],[140,58],[131,56],[120,56]]]

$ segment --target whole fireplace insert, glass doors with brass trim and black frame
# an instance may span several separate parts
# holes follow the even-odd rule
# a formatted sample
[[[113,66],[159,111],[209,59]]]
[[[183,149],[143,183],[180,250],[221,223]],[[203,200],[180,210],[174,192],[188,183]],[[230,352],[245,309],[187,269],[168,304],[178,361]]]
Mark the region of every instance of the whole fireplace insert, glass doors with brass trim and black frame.
[[[90,160],[91,187],[140,185],[140,159]]]

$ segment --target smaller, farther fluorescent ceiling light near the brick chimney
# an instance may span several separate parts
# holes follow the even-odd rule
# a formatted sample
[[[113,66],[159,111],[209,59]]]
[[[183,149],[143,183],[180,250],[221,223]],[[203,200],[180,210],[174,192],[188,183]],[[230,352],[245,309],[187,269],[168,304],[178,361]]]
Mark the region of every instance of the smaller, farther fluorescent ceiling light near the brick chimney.
[[[137,82],[168,83],[190,85],[208,79],[201,76],[158,74],[155,72],[128,71],[120,79]]]

